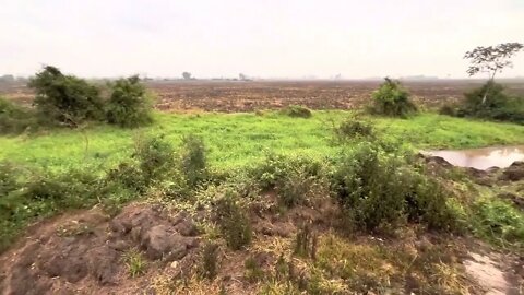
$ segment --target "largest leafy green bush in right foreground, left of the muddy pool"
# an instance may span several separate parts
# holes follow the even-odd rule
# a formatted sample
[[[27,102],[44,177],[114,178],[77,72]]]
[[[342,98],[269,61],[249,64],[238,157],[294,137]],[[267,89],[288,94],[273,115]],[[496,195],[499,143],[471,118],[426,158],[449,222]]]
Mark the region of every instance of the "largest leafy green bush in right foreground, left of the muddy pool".
[[[332,190],[356,225],[367,229],[405,221],[452,229],[455,216],[448,193],[416,172],[402,155],[385,153],[374,142],[361,142],[335,163]]]

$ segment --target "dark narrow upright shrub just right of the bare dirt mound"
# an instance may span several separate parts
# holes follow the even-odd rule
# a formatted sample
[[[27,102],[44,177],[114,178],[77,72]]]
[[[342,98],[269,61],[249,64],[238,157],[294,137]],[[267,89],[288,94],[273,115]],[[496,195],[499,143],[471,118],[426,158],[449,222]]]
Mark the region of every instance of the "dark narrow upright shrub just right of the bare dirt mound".
[[[236,196],[227,192],[226,196],[219,199],[215,205],[215,214],[228,247],[234,250],[240,250],[243,246],[251,243],[251,223]]]

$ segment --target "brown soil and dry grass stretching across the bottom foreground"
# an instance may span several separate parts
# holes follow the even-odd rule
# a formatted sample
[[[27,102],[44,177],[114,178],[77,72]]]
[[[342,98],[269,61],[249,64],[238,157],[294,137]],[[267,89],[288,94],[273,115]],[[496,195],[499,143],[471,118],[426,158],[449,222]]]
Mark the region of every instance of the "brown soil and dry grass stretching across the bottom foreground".
[[[426,162],[436,175],[451,167],[440,157]],[[515,174],[523,170],[522,164],[465,173],[481,186],[508,187],[520,184],[508,176],[523,179]],[[346,235],[337,229],[342,215],[336,202],[321,196],[283,212],[270,191],[250,203],[247,212],[254,237],[237,251],[216,236],[214,216],[204,208],[189,213],[168,203],[133,203],[116,216],[99,208],[63,214],[36,224],[0,256],[0,294],[286,294],[278,287],[286,282],[308,285],[318,280],[319,266],[333,268],[331,278],[321,274],[322,284],[327,284],[323,287],[337,290],[333,294],[379,294],[374,284],[388,285],[392,294],[522,294],[522,256],[469,236],[431,233],[417,225],[385,236]],[[307,257],[294,252],[305,224],[314,240]],[[209,240],[217,251],[213,280],[198,275]],[[126,260],[131,250],[146,263],[136,276]],[[282,258],[287,268],[284,278],[278,272]],[[248,269],[248,259],[257,272]],[[349,273],[338,273],[341,269]],[[272,280],[281,282],[272,285],[276,293],[263,288]]]

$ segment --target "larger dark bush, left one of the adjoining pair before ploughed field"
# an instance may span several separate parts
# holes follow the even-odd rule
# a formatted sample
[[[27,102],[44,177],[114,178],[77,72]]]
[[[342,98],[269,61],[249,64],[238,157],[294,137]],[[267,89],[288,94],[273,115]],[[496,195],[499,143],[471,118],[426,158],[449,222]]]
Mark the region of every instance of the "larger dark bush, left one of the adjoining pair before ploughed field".
[[[29,80],[28,86],[36,92],[34,105],[43,120],[78,127],[86,120],[104,118],[98,88],[83,79],[64,75],[55,67],[45,67]]]

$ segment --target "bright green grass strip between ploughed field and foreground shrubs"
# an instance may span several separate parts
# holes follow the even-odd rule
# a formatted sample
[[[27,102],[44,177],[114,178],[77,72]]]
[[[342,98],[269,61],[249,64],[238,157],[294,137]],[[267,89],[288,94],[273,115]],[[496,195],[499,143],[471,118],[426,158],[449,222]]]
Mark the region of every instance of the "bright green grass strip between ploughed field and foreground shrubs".
[[[128,157],[133,140],[144,134],[164,134],[178,144],[183,135],[198,134],[209,149],[211,164],[228,168],[263,156],[264,151],[326,155],[334,151],[333,128],[352,114],[314,111],[309,119],[278,113],[255,114],[155,114],[155,123],[140,129],[92,126],[83,132],[56,129],[32,135],[0,137],[0,161],[11,161],[51,170],[71,167],[103,168]],[[369,118],[382,137],[414,149],[466,149],[524,143],[524,126],[475,121],[436,114],[410,119]],[[87,141],[86,141],[87,139]],[[86,144],[87,143],[87,144]]]

